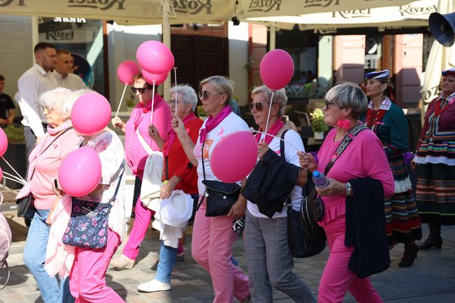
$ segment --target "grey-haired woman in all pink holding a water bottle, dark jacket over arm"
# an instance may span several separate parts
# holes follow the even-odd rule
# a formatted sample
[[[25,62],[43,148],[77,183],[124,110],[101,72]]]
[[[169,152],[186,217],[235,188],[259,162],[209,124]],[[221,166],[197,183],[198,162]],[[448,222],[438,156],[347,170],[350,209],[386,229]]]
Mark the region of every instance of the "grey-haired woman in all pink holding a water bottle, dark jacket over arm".
[[[319,162],[311,154],[299,152],[301,167],[311,172],[324,172],[330,165],[326,173],[330,184],[316,188],[323,202],[318,223],[325,230],[330,251],[318,302],[342,302],[347,291],[358,302],[382,302],[367,276],[371,269],[378,273],[390,264],[384,197],[393,195],[393,175],[378,136],[358,121],[368,104],[360,87],[338,84],[325,99],[325,123],[334,129],[319,149]]]

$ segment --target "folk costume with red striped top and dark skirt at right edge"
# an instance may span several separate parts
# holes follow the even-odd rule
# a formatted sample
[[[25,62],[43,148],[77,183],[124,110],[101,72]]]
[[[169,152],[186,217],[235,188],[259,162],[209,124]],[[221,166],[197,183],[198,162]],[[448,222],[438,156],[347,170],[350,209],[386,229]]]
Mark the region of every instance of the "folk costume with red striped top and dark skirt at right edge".
[[[455,93],[431,101],[417,143],[416,201],[422,222],[455,225]]]

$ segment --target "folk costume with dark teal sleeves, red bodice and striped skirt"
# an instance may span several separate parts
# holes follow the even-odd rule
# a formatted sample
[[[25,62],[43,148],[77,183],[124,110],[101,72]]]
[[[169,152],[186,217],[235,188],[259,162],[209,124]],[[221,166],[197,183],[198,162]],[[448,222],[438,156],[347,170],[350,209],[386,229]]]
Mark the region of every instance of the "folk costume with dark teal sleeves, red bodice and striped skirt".
[[[395,193],[384,203],[389,246],[421,239],[421,221],[403,158],[408,150],[408,123],[402,108],[386,97],[379,110],[373,110],[370,101],[360,120],[380,138],[395,180]]]

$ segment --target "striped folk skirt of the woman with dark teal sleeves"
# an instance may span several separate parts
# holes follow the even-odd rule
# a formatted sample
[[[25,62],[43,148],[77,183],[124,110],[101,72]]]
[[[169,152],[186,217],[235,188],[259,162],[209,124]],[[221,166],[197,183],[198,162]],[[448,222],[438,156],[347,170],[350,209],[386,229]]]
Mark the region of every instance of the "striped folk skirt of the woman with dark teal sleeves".
[[[389,247],[395,243],[410,243],[421,239],[421,222],[412,189],[395,193],[386,199],[385,215]]]

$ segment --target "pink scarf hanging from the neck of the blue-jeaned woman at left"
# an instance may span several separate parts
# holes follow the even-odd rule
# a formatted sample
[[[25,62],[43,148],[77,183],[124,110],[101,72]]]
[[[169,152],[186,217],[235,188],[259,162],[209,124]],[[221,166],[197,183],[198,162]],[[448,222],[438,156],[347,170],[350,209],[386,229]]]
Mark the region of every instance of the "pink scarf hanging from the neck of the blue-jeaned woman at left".
[[[62,125],[52,128],[51,125],[47,125],[47,133],[45,136],[42,137],[42,140],[36,147],[32,150],[29,156],[29,169],[27,172],[27,184],[23,186],[21,191],[16,195],[16,199],[20,199],[22,197],[25,197],[30,193],[30,180],[32,179],[33,172],[35,170],[35,165],[36,165],[36,158],[49,147],[53,143],[53,141],[56,140],[56,135],[58,135],[60,132],[63,132],[64,130],[71,128],[73,124],[71,123],[71,120],[65,121],[62,123]]]

